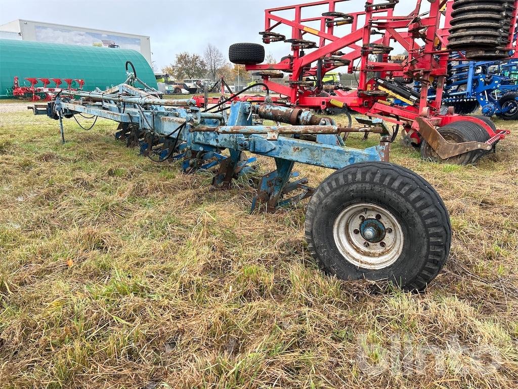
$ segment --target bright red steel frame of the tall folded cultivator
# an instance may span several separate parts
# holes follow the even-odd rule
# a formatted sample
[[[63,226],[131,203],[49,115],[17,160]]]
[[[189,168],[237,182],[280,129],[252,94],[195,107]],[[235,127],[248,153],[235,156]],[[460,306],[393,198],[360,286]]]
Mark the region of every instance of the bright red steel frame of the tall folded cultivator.
[[[279,39],[272,38],[271,33],[275,35],[276,27],[284,25],[290,27],[291,39],[301,40],[309,34],[318,38],[318,46],[313,51],[305,53],[294,43],[291,57],[284,58],[276,64],[248,64],[246,70],[291,73],[289,85],[271,81],[267,73],[263,73],[262,78],[270,91],[286,96],[287,101],[293,105],[313,109],[347,106],[361,114],[382,117],[387,121],[403,125],[411,141],[417,144],[421,142],[420,123],[422,123],[421,120],[419,122],[415,120],[418,117],[433,127],[445,126],[456,120],[476,122],[486,129],[490,135],[490,141],[493,143],[509,133],[507,130],[494,131],[491,126],[478,118],[454,115],[450,112],[440,113],[450,53],[446,45],[448,44],[453,0],[427,2],[430,6],[427,12],[421,11],[423,1],[417,0],[414,10],[406,16],[394,15],[394,7],[398,0],[367,0],[364,11],[347,12],[350,18],[344,20],[343,16],[338,15],[337,5],[346,1],[320,0],[265,10],[265,31],[261,33],[265,44],[289,40],[281,34],[278,34],[281,36]],[[304,9],[319,7],[321,11],[323,6],[327,6],[328,11],[322,16],[302,18]],[[286,11],[292,12],[294,15],[292,20],[279,16],[279,13]],[[360,22],[361,19],[364,21]],[[317,30],[305,24],[310,22],[319,22],[320,29]],[[508,48],[514,50],[514,55],[517,55],[516,41],[513,38],[516,9],[511,23],[513,27],[508,40],[511,44]],[[350,25],[350,32],[338,33],[341,26],[345,24]],[[375,34],[380,34],[381,37],[375,39]],[[399,63],[392,60],[393,55],[389,50],[394,41],[408,52],[408,57]],[[340,52],[340,50],[348,50],[348,52]],[[312,88],[297,84],[296,81],[301,81],[305,77],[315,76],[319,73],[324,75],[336,67],[342,66],[334,64],[333,61],[327,61],[327,64],[325,62],[326,59],[338,57],[341,60],[350,61],[349,73],[359,72],[357,90],[337,89],[334,91],[334,95],[330,95],[326,94],[318,85]],[[373,57],[376,58],[373,59]],[[324,63],[321,65],[322,60]],[[358,62],[358,60],[358,65],[354,66],[353,61]],[[317,63],[317,66],[312,66],[314,63]],[[406,77],[421,82],[419,100],[413,105],[397,105],[390,102],[387,100],[388,95],[373,82],[372,73],[375,73],[380,79]],[[433,100],[429,100],[427,93],[431,82],[434,82],[437,90]],[[257,96],[240,95],[235,97],[235,100],[256,99]],[[277,99],[274,98],[275,100]]]

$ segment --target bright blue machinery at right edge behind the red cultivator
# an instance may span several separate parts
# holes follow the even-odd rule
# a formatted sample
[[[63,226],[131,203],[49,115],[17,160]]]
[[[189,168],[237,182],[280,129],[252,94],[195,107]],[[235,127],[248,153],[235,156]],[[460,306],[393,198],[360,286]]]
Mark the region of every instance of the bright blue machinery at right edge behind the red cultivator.
[[[451,58],[444,105],[453,106],[455,113],[462,115],[480,106],[484,116],[518,119],[518,60],[462,61],[458,53]]]

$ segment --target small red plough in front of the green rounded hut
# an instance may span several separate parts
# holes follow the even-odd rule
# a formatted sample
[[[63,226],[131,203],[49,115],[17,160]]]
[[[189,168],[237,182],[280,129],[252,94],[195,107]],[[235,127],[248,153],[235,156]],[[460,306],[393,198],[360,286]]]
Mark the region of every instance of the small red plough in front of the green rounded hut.
[[[31,86],[20,86],[20,82],[18,77],[15,77],[15,80],[12,85],[12,95],[17,97],[25,97],[30,98],[32,101],[45,100],[51,101],[56,93],[61,92],[64,89],[67,90],[80,90],[83,88],[84,80],[81,79],[73,79],[73,78],[25,78],[28,82],[30,82]],[[43,84],[42,87],[37,87],[38,82]],[[55,84],[54,88],[49,88],[50,82],[53,81]],[[63,81],[66,83],[66,88],[61,88],[61,84]],[[73,88],[73,84],[77,85],[77,88]]]

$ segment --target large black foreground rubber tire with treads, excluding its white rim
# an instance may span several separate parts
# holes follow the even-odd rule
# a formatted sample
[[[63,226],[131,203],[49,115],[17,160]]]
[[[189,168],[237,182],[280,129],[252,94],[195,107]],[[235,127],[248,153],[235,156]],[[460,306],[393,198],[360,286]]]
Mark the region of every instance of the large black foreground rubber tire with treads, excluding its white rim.
[[[402,251],[381,269],[357,267],[339,251],[333,228],[347,207],[372,203],[390,212],[401,226]],[[341,280],[392,281],[407,290],[423,290],[448,258],[451,225],[435,189],[420,175],[388,162],[355,163],[327,177],[306,212],[305,235],[320,268]]]

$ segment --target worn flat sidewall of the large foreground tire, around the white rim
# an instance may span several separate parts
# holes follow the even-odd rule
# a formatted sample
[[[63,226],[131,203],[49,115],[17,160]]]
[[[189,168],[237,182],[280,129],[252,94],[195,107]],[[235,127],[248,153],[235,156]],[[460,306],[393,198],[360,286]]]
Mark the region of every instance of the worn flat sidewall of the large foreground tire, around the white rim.
[[[386,268],[357,268],[340,253],[334,239],[336,218],[347,207],[357,203],[373,203],[389,211],[398,221],[404,236],[402,253]],[[327,272],[343,280],[387,280],[400,286],[412,282],[428,262],[429,236],[425,221],[418,210],[399,192],[373,183],[350,184],[347,190],[335,188],[317,206],[318,218],[311,229],[316,254],[325,264]],[[421,244],[422,242],[427,242]],[[328,251],[329,250],[329,251]],[[325,258],[334,258],[328,263]]]

